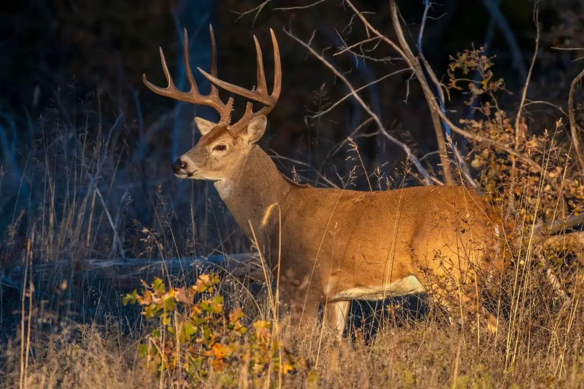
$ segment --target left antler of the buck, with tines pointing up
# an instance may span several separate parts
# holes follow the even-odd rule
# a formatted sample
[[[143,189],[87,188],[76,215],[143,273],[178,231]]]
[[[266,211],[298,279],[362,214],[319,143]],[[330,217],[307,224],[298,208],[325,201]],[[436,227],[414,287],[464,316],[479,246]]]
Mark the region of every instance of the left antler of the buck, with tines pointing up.
[[[217,46],[215,45],[215,34],[213,33],[213,26],[209,25],[209,31],[211,33],[211,75],[217,77]],[[152,92],[160,94],[161,96],[170,97],[174,100],[184,101],[185,103],[199,104],[202,106],[208,106],[213,108],[220,115],[220,124],[229,125],[231,122],[231,111],[233,110],[233,98],[230,97],[227,104],[223,103],[219,97],[219,92],[217,87],[211,83],[211,92],[209,94],[201,94],[197,83],[194,81],[193,72],[190,69],[189,61],[189,36],[184,30],[185,34],[185,71],[187,79],[189,80],[190,90],[189,92],[181,92],[172,81],[170,72],[168,71],[168,66],[166,66],[166,59],[164,58],[164,53],[162,48],[160,48],[160,60],[162,62],[162,70],[168,82],[168,86],[161,88],[155,86],[150,81],[146,79],[146,74],[142,76],[144,84]]]

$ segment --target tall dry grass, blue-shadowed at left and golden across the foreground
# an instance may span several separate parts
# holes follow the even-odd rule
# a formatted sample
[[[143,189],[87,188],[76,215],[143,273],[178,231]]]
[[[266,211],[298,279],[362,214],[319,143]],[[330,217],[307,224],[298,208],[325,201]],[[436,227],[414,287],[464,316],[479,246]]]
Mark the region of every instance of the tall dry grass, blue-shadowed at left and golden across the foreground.
[[[106,126],[108,114],[98,109],[86,112],[85,124],[79,125],[79,120],[63,120],[68,115],[60,109],[54,111],[52,127],[40,122],[36,142],[20,153],[20,169],[6,166],[0,174],[5,226],[0,381],[6,387],[29,388],[188,386],[175,373],[153,374],[139,356],[139,344],[153,328],[162,328],[161,323],[145,320],[137,307],[122,306],[121,295],[128,292],[124,285],[96,282],[83,271],[84,261],[241,252],[249,242],[221,206],[213,205],[205,187],[177,187],[169,169],[159,167],[169,162],[168,156],[153,154],[144,161],[124,149],[119,141],[123,115],[109,114],[112,120]],[[546,144],[540,150],[542,164],[545,171],[553,171],[552,165],[561,160],[554,153],[561,150]],[[350,143],[349,152],[358,155],[356,143]],[[363,159],[356,161],[366,171]],[[356,171],[354,166],[347,170]],[[562,302],[534,257],[531,225],[534,216],[557,215],[560,198],[550,197],[544,179],[534,190],[527,178],[516,180],[523,185],[516,198],[500,201],[503,212],[515,215],[522,226],[520,239],[526,245],[514,251],[510,241],[504,242],[512,264],[501,279],[485,286],[489,309],[502,322],[493,336],[477,336],[470,323],[450,324],[432,304],[427,304],[427,314],[416,314],[420,309],[412,304],[423,299],[394,299],[353,302],[347,342],[339,344],[316,322],[297,328],[280,321],[285,309],[277,292],[225,274],[218,288],[225,307],[240,307],[246,325],[269,321],[274,339],[283,345],[280,350],[307,362],[285,375],[268,374],[262,386],[581,387],[584,324],[576,248],[543,251],[545,264],[568,286],[571,299]],[[72,265],[35,271],[39,264],[63,261]],[[164,281],[169,287],[188,286],[196,276],[185,272],[182,278]],[[383,320],[381,310],[389,313]],[[189,351],[179,350],[187,359]],[[226,381],[211,369],[200,385],[258,384],[249,375],[249,360],[231,363],[234,379]]]

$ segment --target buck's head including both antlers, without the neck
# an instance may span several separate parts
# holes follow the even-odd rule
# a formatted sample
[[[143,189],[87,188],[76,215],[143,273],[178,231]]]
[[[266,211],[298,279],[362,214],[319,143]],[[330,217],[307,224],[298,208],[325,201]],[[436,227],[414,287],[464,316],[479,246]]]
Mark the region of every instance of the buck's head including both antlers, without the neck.
[[[185,101],[185,103],[209,106],[217,111],[220,116],[220,120],[217,123],[200,117],[194,119],[202,136],[192,149],[172,164],[172,170],[176,177],[179,178],[222,181],[231,177],[233,172],[237,171],[238,167],[245,163],[249,151],[265,132],[267,124],[266,115],[272,111],[280,96],[282,73],[278,43],[274,31],[270,29],[274,46],[274,87],[272,94],[267,93],[266,76],[263,71],[262,50],[255,36],[253,36],[253,40],[255,41],[258,61],[258,86],[249,90],[218,79],[217,47],[215,45],[213,27],[209,26],[209,29],[211,32],[211,74],[197,68],[211,82],[211,92],[209,94],[201,94],[194,81],[193,73],[190,69],[189,40],[186,29],[184,30],[185,71],[189,80],[190,91],[181,92],[175,86],[168,71],[168,66],[166,66],[162,48],[160,49],[160,58],[168,86],[162,88],[152,85],[146,79],[145,74],[143,80],[152,92],[161,96]],[[249,101],[246,104],[245,113],[241,119],[235,122],[235,124],[231,124],[233,98],[230,97],[227,103],[223,103],[219,97],[217,86],[229,92],[244,96],[249,100],[258,101],[264,104],[265,107],[253,112],[253,104]]]

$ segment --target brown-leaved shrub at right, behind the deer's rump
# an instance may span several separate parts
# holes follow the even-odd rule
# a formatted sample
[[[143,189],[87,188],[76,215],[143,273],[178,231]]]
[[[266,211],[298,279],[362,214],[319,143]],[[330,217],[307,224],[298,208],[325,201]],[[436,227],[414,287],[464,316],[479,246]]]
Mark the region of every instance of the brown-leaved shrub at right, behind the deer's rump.
[[[536,133],[526,115],[517,121],[499,105],[507,92],[503,79],[495,78],[494,57],[484,48],[464,50],[451,57],[447,75],[450,92],[468,96],[465,103],[474,110],[471,118],[461,119],[468,132],[492,139],[540,164],[543,172],[486,143],[470,141],[471,167],[481,176],[486,198],[501,204],[503,193],[509,195],[516,214],[525,222],[551,222],[582,212],[584,183],[576,164],[571,163],[570,142],[562,141],[562,120],[555,128]],[[573,152],[573,150],[572,150]]]

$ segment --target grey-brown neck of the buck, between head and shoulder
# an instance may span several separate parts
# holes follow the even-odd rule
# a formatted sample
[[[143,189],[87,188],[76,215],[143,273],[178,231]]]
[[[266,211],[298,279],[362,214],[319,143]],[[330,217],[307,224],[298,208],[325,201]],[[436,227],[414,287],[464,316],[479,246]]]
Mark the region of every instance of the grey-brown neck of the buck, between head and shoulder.
[[[249,151],[240,169],[226,180],[216,181],[214,185],[235,222],[250,239],[253,239],[253,234],[249,222],[252,223],[260,246],[265,243],[264,234],[260,234],[260,230],[263,230],[261,222],[266,209],[276,202],[281,205],[292,187],[272,158],[257,145]]]

